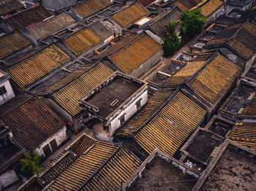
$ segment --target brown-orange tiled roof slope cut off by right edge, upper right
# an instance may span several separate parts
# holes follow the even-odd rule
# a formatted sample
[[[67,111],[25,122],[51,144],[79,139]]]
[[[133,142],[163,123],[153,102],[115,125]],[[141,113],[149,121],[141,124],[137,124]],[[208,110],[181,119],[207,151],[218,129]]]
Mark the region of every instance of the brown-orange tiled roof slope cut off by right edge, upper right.
[[[248,40],[249,39],[249,40]],[[256,26],[247,22],[227,44],[249,60],[256,53]]]

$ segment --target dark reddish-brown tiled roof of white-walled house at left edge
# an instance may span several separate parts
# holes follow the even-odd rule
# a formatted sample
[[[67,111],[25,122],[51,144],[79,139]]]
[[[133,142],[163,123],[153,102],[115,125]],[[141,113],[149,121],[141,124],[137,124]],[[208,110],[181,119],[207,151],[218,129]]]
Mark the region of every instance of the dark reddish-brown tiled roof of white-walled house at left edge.
[[[30,98],[0,120],[10,127],[14,139],[28,151],[64,128],[64,122],[37,97]]]

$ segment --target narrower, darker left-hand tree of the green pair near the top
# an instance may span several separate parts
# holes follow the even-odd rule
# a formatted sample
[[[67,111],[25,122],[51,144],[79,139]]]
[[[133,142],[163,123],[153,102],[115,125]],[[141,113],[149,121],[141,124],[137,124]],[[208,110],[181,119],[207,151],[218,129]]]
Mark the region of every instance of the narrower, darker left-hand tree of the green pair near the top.
[[[178,35],[176,33],[176,28],[180,24],[179,21],[170,20],[167,26],[165,26],[165,31],[163,32],[163,49],[164,55],[170,56],[173,55],[174,52],[177,50],[179,43],[178,43]]]

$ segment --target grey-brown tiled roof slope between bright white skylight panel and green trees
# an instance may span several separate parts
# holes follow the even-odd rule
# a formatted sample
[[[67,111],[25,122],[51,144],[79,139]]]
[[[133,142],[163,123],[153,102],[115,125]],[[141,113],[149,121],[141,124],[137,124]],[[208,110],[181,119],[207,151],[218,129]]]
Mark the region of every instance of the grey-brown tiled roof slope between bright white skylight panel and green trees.
[[[181,18],[181,10],[178,9],[178,7],[175,7],[170,12],[168,12],[164,17],[152,23],[150,27],[156,34],[158,34],[159,36],[163,36],[163,31],[165,30],[165,26],[168,25],[170,20],[180,20],[180,18]]]

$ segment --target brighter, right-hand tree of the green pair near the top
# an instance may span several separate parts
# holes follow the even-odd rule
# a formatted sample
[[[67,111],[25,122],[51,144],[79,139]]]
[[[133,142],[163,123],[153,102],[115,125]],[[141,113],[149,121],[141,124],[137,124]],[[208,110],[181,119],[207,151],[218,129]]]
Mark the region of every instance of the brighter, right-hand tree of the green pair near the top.
[[[192,37],[199,32],[200,28],[206,23],[206,18],[200,13],[201,9],[181,12],[181,33],[184,39],[192,39]]]

